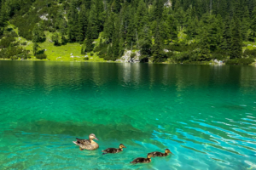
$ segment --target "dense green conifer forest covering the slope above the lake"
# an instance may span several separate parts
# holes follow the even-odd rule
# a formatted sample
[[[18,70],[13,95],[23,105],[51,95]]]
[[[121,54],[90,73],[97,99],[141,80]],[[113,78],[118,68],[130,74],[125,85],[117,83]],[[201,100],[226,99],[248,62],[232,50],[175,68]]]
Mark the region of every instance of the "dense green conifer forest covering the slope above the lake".
[[[256,57],[256,48],[245,43],[253,46],[256,37],[256,0],[0,2],[0,58],[35,55],[45,59],[40,43],[46,40],[46,31],[55,46],[79,43],[80,54],[93,52],[106,60],[135,49],[141,62],[154,63],[219,59],[250,64]],[[15,37],[32,41],[32,51],[22,48]]]

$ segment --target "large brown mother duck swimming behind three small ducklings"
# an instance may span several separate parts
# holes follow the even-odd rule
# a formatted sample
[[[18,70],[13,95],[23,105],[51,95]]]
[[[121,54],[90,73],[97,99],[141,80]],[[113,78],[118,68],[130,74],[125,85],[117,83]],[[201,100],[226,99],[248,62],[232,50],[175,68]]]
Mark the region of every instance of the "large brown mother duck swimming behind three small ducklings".
[[[73,143],[79,145],[80,150],[96,150],[99,148],[99,144],[93,141],[93,139],[99,140],[94,133],[91,133],[89,139],[77,139]]]

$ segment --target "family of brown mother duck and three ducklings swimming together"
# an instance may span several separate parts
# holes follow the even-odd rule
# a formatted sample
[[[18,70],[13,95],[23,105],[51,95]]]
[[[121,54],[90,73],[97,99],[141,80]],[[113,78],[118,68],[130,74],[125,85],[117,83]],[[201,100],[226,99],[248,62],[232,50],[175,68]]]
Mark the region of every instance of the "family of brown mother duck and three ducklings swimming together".
[[[77,139],[77,141],[73,141],[74,144],[79,145],[80,150],[96,150],[99,148],[99,144],[97,144],[93,139],[99,140],[96,138],[96,135],[94,133],[91,133],[89,135],[89,139]],[[119,148],[108,148],[106,150],[102,150],[102,155],[105,154],[115,154],[119,153],[120,151],[123,151],[123,148],[126,148],[124,144],[119,144]],[[144,157],[138,157],[131,161],[131,163],[136,164],[136,163],[149,163],[151,162],[151,157],[154,156],[168,156],[169,154],[172,154],[172,152],[169,149],[165,150],[165,153],[161,153],[159,151],[154,151],[148,153],[148,156],[146,158]]]

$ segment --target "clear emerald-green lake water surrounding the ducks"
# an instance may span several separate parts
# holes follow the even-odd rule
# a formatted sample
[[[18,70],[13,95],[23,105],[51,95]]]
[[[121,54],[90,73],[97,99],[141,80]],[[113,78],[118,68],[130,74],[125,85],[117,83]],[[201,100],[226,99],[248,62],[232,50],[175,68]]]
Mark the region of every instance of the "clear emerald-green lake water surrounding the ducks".
[[[253,66],[0,61],[0,168],[256,169],[255,92]]]

